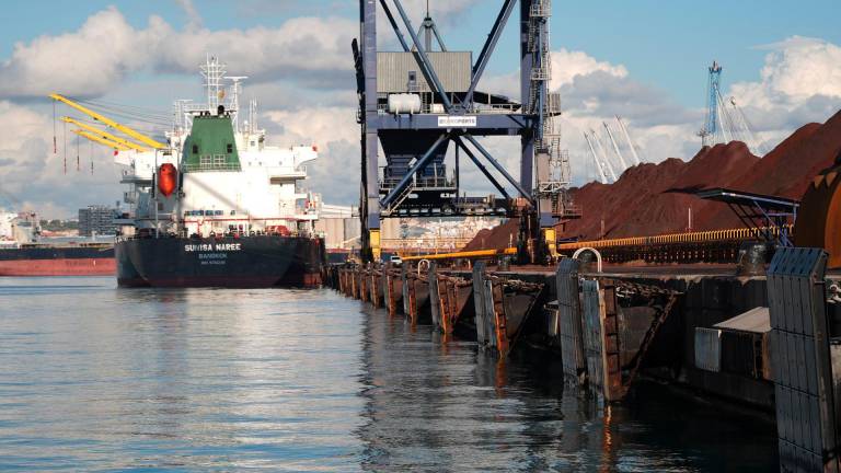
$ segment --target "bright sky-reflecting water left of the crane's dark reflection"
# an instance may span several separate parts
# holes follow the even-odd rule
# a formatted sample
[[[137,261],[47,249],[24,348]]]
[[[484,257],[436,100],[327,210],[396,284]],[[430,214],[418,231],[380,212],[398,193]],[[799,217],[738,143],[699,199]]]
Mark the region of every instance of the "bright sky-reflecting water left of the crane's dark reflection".
[[[360,314],[332,292],[3,282],[0,470],[358,468]]]

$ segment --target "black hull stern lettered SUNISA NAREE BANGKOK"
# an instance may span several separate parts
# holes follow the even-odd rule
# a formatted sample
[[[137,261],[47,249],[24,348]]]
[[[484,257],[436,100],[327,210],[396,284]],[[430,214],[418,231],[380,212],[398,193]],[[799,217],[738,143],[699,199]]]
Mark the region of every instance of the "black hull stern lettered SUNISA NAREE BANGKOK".
[[[304,236],[131,239],[115,246],[124,287],[313,287],[324,242]]]

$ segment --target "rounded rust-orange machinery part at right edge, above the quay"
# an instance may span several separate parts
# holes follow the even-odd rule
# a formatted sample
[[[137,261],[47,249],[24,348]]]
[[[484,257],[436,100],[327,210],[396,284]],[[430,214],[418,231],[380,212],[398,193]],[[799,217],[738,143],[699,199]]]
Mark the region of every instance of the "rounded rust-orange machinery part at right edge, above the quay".
[[[841,157],[840,157],[841,158]],[[829,268],[841,267],[841,164],[815,176],[800,200],[794,226],[796,246],[822,247]]]

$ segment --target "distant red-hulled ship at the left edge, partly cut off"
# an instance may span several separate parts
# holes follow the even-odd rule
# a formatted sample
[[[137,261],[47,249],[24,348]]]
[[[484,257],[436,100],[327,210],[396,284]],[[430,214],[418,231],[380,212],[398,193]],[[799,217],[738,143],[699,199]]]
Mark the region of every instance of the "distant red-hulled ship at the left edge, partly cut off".
[[[0,277],[116,273],[113,243],[48,242],[39,235],[35,214],[0,211]]]

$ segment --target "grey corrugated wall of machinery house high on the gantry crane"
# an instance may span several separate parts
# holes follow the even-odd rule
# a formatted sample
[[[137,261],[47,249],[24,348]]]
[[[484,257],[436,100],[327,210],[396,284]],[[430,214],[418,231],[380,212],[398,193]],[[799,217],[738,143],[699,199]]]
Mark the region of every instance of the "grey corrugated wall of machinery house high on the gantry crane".
[[[427,53],[438,80],[447,92],[466,92],[470,89],[473,54],[471,51]],[[429,92],[420,67],[412,53],[377,53],[377,92],[410,92],[408,73],[415,72],[417,90]]]

